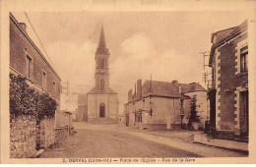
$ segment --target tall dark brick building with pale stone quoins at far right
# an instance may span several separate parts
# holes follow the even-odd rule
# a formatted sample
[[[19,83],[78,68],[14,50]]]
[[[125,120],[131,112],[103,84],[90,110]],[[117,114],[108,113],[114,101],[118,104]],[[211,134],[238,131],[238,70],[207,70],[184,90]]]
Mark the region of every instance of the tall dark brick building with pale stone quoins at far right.
[[[247,21],[212,34],[211,126],[222,139],[248,137],[248,30]]]

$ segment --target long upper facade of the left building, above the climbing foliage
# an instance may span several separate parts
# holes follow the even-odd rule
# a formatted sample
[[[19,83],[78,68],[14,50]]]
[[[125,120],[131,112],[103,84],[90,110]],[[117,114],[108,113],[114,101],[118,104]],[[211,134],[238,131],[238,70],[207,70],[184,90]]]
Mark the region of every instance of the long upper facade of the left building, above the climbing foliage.
[[[61,79],[33,43],[26,24],[19,23],[10,13],[10,73],[26,77],[37,92],[48,93],[60,104]]]

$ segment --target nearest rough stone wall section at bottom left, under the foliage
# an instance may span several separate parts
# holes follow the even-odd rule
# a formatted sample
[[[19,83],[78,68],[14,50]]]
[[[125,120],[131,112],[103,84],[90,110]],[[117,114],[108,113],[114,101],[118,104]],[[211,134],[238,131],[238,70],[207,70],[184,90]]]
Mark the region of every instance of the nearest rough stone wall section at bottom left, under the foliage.
[[[35,124],[33,116],[20,116],[10,120],[10,157],[35,157]]]

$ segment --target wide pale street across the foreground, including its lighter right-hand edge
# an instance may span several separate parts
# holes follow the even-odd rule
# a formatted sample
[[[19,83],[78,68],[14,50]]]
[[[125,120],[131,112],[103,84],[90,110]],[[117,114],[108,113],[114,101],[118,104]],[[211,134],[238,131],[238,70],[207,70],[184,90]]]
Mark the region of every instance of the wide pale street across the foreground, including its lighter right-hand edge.
[[[221,148],[195,145],[182,139],[157,136],[156,132],[151,135],[149,132],[127,129],[118,124],[77,123],[75,131],[74,136],[63,140],[58,147],[46,148],[40,158],[245,156]],[[170,144],[166,143],[166,139]]]

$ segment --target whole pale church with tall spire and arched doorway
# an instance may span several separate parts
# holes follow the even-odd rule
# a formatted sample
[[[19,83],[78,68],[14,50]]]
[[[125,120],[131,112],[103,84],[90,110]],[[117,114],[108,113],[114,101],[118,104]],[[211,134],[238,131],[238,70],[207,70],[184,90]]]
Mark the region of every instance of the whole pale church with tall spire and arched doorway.
[[[109,55],[101,26],[96,49],[96,85],[87,93],[88,121],[98,118],[118,119],[117,92],[109,86]]]

